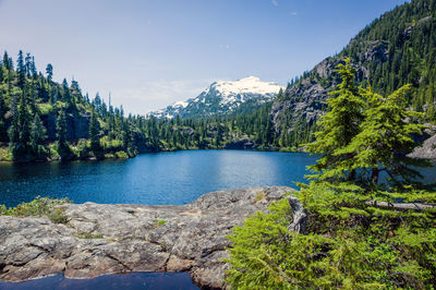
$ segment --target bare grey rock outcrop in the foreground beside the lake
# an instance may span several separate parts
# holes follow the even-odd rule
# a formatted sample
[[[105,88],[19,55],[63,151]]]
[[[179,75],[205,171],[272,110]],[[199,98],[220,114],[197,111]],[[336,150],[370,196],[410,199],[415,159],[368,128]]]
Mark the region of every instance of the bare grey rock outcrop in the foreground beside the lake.
[[[126,271],[190,271],[204,288],[223,288],[230,245],[225,235],[289,188],[252,188],[205,194],[183,206],[62,205],[68,222],[0,216],[0,279],[23,281],[63,273],[90,278]],[[304,222],[301,204],[288,198]],[[290,225],[304,230],[304,225]]]

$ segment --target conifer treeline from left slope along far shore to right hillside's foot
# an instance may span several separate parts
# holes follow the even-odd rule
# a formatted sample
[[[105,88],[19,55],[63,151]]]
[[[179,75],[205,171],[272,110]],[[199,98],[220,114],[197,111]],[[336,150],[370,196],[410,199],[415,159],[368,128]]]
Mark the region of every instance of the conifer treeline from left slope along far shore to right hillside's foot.
[[[270,148],[270,105],[245,113],[158,120],[124,116],[77,81],[53,82],[53,67],[38,72],[31,53],[0,62],[0,159],[49,160],[128,158],[142,152]]]

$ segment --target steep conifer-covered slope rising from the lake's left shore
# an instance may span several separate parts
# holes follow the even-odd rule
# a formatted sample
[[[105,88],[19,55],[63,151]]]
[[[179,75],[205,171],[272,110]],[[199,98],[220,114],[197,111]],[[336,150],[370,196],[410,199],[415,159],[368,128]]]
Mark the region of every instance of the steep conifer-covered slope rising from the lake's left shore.
[[[16,63],[4,52],[0,62],[1,160],[85,159],[134,156],[143,137],[122,108],[107,106],[97,95],[83,95],[76,81],[52,81],[31,53]]]

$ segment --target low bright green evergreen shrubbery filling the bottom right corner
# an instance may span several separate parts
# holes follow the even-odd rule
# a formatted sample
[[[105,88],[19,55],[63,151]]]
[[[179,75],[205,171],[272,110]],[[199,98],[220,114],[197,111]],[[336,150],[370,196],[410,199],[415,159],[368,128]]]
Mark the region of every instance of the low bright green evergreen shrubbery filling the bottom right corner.
[[[311,184],[296,193],[311,213],[307,234],[287,230],[287,200],[235,227],[226,281],[241,289],[432,289],[436,209],[374,207],[347,189]],[[384,194],[436,202],[436,194],[421,191]]]

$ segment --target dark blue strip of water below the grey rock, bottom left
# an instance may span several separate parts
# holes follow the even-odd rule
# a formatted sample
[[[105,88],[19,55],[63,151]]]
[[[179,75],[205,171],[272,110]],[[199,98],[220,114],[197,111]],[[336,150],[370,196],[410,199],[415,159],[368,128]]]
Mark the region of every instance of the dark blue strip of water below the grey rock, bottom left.
[[[2,282],[0,289],[13,290],[111,290],[111,289],[198,289],[187,273],[131,273],[105,275],[93,279],[66,279],[62,274],[26,282]]]

